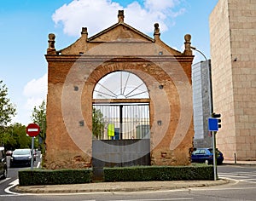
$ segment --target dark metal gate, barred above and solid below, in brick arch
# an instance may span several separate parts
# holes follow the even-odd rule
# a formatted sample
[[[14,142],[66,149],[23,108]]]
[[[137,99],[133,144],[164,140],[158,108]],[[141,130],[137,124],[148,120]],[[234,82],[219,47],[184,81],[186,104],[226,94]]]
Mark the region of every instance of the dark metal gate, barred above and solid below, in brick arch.
[[[94,180],[103,167],[150,164],[148,103],[94,103],[92,118]]]

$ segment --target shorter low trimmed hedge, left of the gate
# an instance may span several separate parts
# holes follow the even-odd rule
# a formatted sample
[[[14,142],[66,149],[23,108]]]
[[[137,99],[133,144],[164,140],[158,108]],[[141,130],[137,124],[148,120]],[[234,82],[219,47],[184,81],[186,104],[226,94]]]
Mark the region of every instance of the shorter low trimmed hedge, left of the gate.
[[[92,169],[22,169],[18,172],[20,186],[89,183]]]

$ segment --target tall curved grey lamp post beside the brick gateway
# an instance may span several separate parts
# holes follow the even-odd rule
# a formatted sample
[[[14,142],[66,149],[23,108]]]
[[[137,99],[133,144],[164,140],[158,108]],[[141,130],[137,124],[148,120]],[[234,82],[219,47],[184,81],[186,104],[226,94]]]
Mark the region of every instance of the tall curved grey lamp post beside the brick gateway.
[[[199,52],[207,61],[207,75],[208,75],[208,95],[209,95],[209,114],[210,117],[212,117],[213,113],[213,104],[212,104],[212,78],[211,78],[211,69],[209,65],[209,60],[207,60],[206,55],[204,55],[200,50],[196,49],[195,47],[190,46],[191,49]],[[213,170],[214,170],[214,181],[217,180],[217,160],[216,160],[216,138],[215,138],[215,132],[211,131],[212,135],[212,152],[213,152]]]

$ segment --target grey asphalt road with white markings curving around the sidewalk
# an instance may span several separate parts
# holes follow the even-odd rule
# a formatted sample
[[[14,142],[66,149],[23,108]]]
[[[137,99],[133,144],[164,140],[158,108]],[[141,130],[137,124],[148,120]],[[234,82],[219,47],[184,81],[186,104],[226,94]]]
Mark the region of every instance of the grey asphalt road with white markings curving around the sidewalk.
[[[9,177],[15,177],[18,169],[10,169]],[[255,200],[256,198],[256,166],[254,165],[221,165],[218,176],[228,178],[230,183],[217,187],[199,187],[170,191],[151,192],[87,192],[81,194],[12,194],[4,192],[15,178],[1,181],[1,201],[9,200],[81,200],[81,201],[168,201],[168,200]]]

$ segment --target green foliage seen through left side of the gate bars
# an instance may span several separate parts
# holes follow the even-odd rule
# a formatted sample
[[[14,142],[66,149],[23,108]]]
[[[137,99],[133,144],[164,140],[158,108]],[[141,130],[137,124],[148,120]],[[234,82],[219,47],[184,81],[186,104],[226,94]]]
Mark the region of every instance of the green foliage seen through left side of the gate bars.
[[[93,108],[92,110],[92,135],[96,136],[96,138],[101,137],[105,123],[103,121],[103,114],[101,110],[96,110]]]

